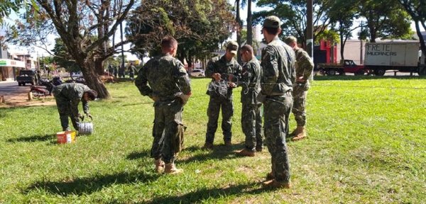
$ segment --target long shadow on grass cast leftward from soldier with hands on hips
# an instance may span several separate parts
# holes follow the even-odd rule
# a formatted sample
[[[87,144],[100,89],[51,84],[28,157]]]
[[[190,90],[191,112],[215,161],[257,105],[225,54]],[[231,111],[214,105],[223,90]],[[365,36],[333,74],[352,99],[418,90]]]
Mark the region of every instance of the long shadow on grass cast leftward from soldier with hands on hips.
[[[159,174],[147,174],[143,171],[122,172],[118,174],[95,175],[89,178],[67,179],[63,181],[37,181],[22,193],[46,191],[60,196],[91,194],[114,184],[148,183],[158,179]]]

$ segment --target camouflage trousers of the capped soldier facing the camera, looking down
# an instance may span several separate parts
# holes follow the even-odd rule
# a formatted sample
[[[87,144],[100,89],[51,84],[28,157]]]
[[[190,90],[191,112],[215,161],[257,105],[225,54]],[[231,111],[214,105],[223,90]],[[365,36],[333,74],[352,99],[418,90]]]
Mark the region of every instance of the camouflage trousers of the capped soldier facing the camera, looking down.
[[[232,115],[234,115],[234,106],[232,99],[219,98],[210,96],[209,107],[207,108],[206,143],[214,142],[214,133],[217,130],[217,120],[219,119],[220,108],[222,107],[222,131],[224,134],[224,142],[230,142],[232,137]]]

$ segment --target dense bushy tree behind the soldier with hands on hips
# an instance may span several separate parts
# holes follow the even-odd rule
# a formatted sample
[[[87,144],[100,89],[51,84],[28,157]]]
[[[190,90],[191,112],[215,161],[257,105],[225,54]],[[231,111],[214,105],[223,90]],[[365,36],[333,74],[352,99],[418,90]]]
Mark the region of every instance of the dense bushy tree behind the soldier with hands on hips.
[[[173,35],[179,43],[178,58],[191,66],[207,57],[229,38],[235,28],[231,5],[226,0],[146,0],[133,12],[126,29],[138,55],[157,55],[159,42]]]

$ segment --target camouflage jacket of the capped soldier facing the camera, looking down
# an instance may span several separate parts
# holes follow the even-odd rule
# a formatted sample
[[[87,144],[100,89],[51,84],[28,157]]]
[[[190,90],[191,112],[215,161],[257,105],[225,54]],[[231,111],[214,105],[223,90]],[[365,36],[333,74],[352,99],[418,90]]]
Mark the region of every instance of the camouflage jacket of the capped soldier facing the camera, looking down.
[[[228,81],[226,79],[229,74],[234,75],[234,82],[236,79],[241,78],[241,65],[236,62],[234,58],[230,62],[226,62],[225,55],[222,55],[222,57],[213,57],[212,60],[207,63],[207,69],[206,69],[206,77],[212,78],[212,75],[214,73],[219,73],[222,75],[222,79]],[[213,81],[214,79],[212,79]],[[232,89],[228,89],[228,98],[232,97]]]

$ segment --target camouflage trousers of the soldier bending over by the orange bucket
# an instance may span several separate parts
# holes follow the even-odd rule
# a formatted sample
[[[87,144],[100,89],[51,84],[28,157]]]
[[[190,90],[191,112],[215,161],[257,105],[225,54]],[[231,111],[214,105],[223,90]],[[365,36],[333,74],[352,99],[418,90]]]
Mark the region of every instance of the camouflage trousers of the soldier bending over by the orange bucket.
[[[78,124],[80,123],[80,118],[78,118],[78,107],[72,106],[70,100],[61,96],[55,96],[55,101],[56,106],[58,107],[62,131],[70,130],[68,117],[71,118],[71,123],[74,129],[78,130]]]

